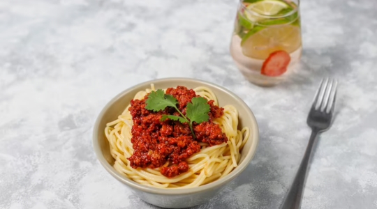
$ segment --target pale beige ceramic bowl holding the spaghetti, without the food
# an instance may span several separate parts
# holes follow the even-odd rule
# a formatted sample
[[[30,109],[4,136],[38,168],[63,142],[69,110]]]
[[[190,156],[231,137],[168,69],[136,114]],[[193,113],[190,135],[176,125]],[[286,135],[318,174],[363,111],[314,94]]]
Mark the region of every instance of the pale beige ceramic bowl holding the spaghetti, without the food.
[[[239,166],[225,178],[221,178],[220,180],[216,180],[207,185],[188,189],[154,188],[146,185],[140,185],[133,180],[121,176],[121,174],[112,167],[114,164],[114,159],[110,155],[110,148],[108,140],[105,138],[104,129],[106,123],[117,119],[119,114],[121,114],[124,108],[126,108],[126,106],[133,99],[135,93],[145,90],[145,88],[150,88],[151,84],[154,84],[156,88],[177,86],[195,88],[198,86],[206,86],[214,91],[219,100],[220,107],[223,107],[226,104],[232,104],[235,106],[239,111],[239,127],[247,126],[251,130],[250,138],[242,149],[242,157],[239,162]],[[106,106],[103,108],[96,120],[93,132],[94,151],[96,152],[99,162],[101,162],[106,171],[108,171],[121,183],[128,186],[133,193],[143,201],[163,208],[188,208],[199,205],[200,203],[211,199],[213,196],[219,193],[223,187],[230,183],[231,180],[236,178],[240,173],[242,173],[242,171],[244,171],[244,169],[246,169],[256,153],[258,141],[259,133],[256,118],[244,101],[242,101],[234,93],[219,85],[197,79],[186,78],[156,79],[138,84],[119,93],[119,95],[108,102],[108,104],[106,104]]]

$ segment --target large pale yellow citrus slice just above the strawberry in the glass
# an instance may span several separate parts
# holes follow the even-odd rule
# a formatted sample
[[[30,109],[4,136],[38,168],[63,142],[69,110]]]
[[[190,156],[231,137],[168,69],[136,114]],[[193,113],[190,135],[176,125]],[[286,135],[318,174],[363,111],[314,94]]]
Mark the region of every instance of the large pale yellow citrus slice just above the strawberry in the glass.
[[[241,42],[242,52],[255,59],[267,59],[269,54],[279,50],[291,53],[301,46],[300,27],[291,24],[260,27],[259,31],[248,35]]]

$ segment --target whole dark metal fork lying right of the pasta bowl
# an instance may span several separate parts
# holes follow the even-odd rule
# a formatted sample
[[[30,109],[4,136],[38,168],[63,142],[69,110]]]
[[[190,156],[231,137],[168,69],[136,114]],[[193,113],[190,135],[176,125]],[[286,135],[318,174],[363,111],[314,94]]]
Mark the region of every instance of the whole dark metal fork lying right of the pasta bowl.
[[[338,82],[335,79],[323,79],[313,100],[309,111],[307,123],[311,127],[311,136],[306,147],[304,157],[296,173],[288,194],[281,204],[281,209],[298,209],[301,206],[301,199],[304,190],[306,173],[311,161],[311,153],[317,143],[317,135],[330,128],[332,115],[334,113],[335,98],[337,95]]]

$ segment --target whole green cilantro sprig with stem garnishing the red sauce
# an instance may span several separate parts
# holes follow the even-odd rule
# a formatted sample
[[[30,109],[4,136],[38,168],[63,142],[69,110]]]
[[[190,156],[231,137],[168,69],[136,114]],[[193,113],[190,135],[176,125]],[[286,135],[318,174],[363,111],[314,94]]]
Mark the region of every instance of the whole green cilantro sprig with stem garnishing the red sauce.
[[[179,104],[178,100],[172,95],[165,94],[161,89],[152,91],[148,95],[146,103],[147,105],[145,108],[150,111],[161,111],[166,107],[174,107],[181,116],[163,115],[161,121],[165,121],[169,118],[173,121],[179,121],[179,123],[188,123],[188,125],[190,125],[191,134],[193,134],[194,138],[195,133],[193,132],[193,122],[203,123],[209,121],[208,113],[211,110],[211,107],[205,98],[193,98],[191,102],[187,104],[186,116],[179,111],[177,107],[177,104]]]

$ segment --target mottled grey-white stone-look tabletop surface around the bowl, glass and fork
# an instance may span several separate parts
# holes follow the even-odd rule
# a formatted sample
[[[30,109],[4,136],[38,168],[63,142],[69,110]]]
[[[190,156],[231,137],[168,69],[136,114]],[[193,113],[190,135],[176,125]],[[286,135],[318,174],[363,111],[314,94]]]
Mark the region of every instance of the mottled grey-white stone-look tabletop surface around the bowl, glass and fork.
[[[322,77],[339,79],[302,208],[377,208],[377,1],[303,0],[300,72],[249,84],[228,46],[237,1],[1,0],[0,208],[155,208],[96,160],[91,129],[120,91],[195,77],[244,98],[260,125],[256,157],[196,208],[277,208],[304,153]]]

